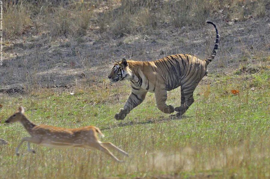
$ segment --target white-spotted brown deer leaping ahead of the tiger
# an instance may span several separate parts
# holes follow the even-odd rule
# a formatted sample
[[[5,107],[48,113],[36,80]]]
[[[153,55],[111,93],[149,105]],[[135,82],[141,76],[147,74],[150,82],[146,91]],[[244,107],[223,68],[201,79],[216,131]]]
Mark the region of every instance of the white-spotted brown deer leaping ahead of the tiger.
[[[31,136],[22,138],[21,142],[16,148],[17,155],[19,155],[19,148],[22,143],[27,141],[27,151],[31,153],[35,153],[35,151],[30,149],[30,142],[51,148],[95,148],[113,157],[113,159],[117,162],[122,161],[117,159],[107,148],[115,149],[119,153],[128,156],[125,151],[116,147],[112,143],[99,141],[97,134],[99,134],[101,137],[104,137],[104,135],[97,127],[86,126],[76,129],[68,129],[48,125],[36,125],[26,118],[24,115],[24,108],[22,106],[19,107],[18,112],[10,116],[5,122],[22,123],[23,127]]]

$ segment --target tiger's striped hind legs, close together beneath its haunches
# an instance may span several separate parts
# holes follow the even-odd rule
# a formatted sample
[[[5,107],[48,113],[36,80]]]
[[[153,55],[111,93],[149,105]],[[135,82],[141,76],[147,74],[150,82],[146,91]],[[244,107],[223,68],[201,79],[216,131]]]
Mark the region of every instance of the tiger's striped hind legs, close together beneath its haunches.
[[[176,107],[177,116],[183,115],[194,102],[193,92],[197,85],[190,87],[181,86],[181,106]]]

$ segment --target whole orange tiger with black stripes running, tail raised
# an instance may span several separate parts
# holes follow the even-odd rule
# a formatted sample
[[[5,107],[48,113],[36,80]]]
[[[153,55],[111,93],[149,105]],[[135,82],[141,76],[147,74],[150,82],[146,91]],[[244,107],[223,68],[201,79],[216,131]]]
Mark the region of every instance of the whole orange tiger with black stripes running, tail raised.
[[[214,59],[219,44],[219,34],[216,25],[211,21],[216,30],[214,49],[208,58],[203,60],[189,54],[170,55],[155,61],[116,61],[111,73],[108,75],[110,82],[129,80],[131,94],[124,108],[116,113],[116,120],[123,120],[132,109],[138,106],[146,97],[146,93],[155,93],[156,105],[159,110],[170,114],[183,115],[194,102],[193,92],[204,76],[208,76],[207,66]],[[174,108],[167,105],[167,91],[181,86],[181,105]]]

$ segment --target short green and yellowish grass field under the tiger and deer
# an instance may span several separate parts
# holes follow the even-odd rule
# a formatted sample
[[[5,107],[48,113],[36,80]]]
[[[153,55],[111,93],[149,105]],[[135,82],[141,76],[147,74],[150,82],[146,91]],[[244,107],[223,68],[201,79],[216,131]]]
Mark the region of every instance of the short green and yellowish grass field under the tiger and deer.
[[[246,76],[209,75],[208,86],[196,88],[195,102],[184,117],[171,119],[155,106],[155,95],[125,118],[113,116],[130,93],[128,82],[104,84],[69,91],[41,90],[26,96],[0,95],[0,137],[10,142],[0,146],[3,178],[269,178],[270,113],[268,71]],[[251,90],[252,88],[252,90]],[[239,90],[239,95],[230,90]],[[202,95],[196,95],[196,94]],[[167,104],[180,103],[180,88],[168,93]],[[15,148],[29,136],[21,124],[4,124],[19,105],[36,124],[76,128],[99,127],[102,141],[112,142],[130,154],[113,153],[125,163],[86,149],[50,149],[31,145],[17,157]]]

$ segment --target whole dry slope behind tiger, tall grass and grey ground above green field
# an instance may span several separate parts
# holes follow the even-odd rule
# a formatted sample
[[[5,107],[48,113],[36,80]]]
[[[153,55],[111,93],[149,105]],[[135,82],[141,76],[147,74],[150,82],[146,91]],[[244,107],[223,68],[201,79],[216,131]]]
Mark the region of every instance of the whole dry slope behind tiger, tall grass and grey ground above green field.
[[[212,72],[268,61],[269,24],[262,22],[269,21],[269,3],[264,0],[12,2],[4,3],[1,91],[88,85],[93,76],[106,76],[112,59],[123,57],[153,60],[191,53],[203,58],[214,37],[206,19],[217,24],[222,42]]]

